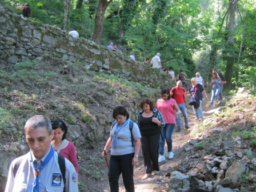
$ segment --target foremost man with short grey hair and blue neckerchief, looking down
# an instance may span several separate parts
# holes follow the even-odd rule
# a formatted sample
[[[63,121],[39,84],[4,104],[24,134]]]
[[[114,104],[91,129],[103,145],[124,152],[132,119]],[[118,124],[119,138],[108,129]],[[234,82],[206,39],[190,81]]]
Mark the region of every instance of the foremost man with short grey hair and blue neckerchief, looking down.
[[[11,163],[5,192],[77,192],[74,166],[50,145],[53,139],[50,119],[44,115],[31,117],[25,124],[25,137],[30,151]]]

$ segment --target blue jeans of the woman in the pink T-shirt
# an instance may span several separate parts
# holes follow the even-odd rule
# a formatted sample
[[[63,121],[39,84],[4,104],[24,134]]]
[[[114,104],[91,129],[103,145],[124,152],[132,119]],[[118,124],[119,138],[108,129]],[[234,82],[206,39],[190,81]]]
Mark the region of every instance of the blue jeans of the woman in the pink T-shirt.
[[[166,123],[165,127],[162,130],[162,133],[159,138],[159,154],[163,155],[163,151],[165,148],[165,139],[167,143],[168,152],[171,152],[173,148],[173,141],[171,140],[171,135],[173,134],[174,130],[174,123]]]

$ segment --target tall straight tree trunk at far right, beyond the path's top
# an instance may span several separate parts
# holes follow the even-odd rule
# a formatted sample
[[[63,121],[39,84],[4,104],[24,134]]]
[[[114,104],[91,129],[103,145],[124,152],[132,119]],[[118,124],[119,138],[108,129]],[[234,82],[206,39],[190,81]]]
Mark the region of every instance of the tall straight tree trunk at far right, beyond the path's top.
[[[227,82],[227,87],[231,88],[231,78],[233,77],[233,67],[235,62],[235,51],[234,51],[234,31],[235,31],[235,7],[237,7],[237,1],[229,0],[229,38],[227,39],[227,65],[225,78]]]

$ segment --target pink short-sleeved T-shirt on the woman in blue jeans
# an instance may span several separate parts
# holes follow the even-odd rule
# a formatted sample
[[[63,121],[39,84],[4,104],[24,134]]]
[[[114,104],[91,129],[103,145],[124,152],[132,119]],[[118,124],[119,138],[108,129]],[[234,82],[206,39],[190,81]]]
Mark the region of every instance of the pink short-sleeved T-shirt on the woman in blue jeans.
[[[176,101],[174,99],[169,100],[163,100],[158,99],[157,103],[155,104],[155,107],[162,113],[163,120],[165,120],[166,123],[174,123],[175,124],[175,108],[174,103]]]

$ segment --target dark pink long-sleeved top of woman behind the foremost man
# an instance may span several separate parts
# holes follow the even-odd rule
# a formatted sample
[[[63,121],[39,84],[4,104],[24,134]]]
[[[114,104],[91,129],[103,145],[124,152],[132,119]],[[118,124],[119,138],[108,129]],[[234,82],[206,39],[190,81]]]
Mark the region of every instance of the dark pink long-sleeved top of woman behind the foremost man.
[[[75,167],[75,171],[78,173],[78,163],[77,163],[77,154],[76,154],[75,146],[72,142],[69,141],[69,144],[59,151],[59,154],[66,157]]]

